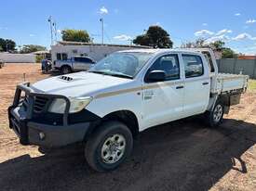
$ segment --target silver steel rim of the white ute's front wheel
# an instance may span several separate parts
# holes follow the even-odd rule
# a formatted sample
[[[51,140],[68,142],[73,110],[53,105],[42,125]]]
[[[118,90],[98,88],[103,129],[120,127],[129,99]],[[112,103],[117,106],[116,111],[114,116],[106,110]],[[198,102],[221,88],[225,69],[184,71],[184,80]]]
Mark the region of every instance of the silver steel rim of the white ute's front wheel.
[[[124,135],[113,134],[109,136],[101,147],[102,161],[107,164],[114,164],[124,156],[126,145]]]

